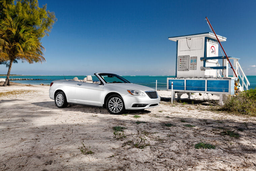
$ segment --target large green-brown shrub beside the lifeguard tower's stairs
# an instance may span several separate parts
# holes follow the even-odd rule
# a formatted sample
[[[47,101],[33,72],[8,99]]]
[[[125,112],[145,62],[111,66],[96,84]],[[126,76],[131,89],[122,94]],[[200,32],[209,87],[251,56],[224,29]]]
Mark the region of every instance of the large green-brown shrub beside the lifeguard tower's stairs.
[[[239,92],[228,99],[221,110],[256,115],[256,89]]]

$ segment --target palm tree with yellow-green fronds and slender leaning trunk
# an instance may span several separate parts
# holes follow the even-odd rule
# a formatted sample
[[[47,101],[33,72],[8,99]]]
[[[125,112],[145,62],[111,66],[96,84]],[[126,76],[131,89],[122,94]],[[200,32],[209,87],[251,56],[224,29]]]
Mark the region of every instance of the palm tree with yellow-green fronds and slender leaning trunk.
[[[12,20],[7,17],[0,22],[0,62],[9,61],[9,69],[3,86],[9,84],[9,76],[13,61],[22,60],[30,64],[45,61],[40,40],[36,30],[28,20]]]

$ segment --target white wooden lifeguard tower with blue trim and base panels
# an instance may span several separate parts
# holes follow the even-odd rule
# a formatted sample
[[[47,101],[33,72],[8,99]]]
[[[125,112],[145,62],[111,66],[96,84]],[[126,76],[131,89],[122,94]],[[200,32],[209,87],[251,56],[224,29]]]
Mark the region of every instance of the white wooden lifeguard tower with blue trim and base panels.
[[[176,42],[176,72],[175,78],[167,78],[167,90],[171,90],[173,82],[173,94],[178,94],[178,99],[184,93],[189,98],[191,93],[209,93],[220,96],[220,105],[227,95],[233,95],[235,89],[248,90],[248,81],[240,64],[239,58],[228,57],[233,60],[234,73],[228,76],[228,60],[225,55],[219,55],[219,43],[226,41],[226,37],[211,33],[198,33],[184,36],[169,37]],[[242,75],[241,75],[241,73]],[[237,87],[235,82],[240,77]],[[245,82],[245,80],[246,82]],[[236,88],[235,88],[236,87]]]

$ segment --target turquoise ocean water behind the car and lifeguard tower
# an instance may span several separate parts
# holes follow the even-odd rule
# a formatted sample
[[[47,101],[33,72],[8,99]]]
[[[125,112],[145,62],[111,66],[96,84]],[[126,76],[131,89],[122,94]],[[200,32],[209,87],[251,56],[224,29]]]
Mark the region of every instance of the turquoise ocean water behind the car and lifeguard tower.
[[[66,79],[73,79],[74,75],[65,75]],[[76,76],[78,79],[84,79],[86,77],[85,75],[79,75]],[[93,80],[96,80],[96,76],[92,76]],[[123,78],[127,79],[128,81],[132,83],[141,84],[143,86],[148,86],[153,89],[156,88],[156,80],[157,80],[157,90],[166,90],[166,82],[167,77],[175,77],[171,75],[165,75],[165,76],[157,76],[157,75],[123,75]],[[6,78],[6,76],[0,76],[0,78]],[[50,84],[53,80],[57,79],[64,79],[64,76],[60,75],[15,75],[10,76],[10,78],[32,78],[32,79],[42,79],[42,80],[12,80],[12,82],[18,82],[23,84]],[[256,76],[247,76],[250,86],[249,89],[255,89],[256,88]],[[242,81],[241,81],[242,83]]]

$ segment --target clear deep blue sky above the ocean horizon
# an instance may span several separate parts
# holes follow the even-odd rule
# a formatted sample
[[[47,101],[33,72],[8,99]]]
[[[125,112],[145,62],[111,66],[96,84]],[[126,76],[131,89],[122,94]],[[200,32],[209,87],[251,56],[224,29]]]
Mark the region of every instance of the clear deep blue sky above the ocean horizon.
[[[11,74],[175,75],[176,43],[170,36],[209,32],[227,37],[228,56],[256,75],[256,1],[38,0],[58,21],[42,39],[43,64],[13,64]],[[7,68],[0,65],[0,74]]]

